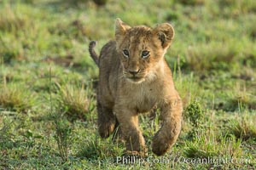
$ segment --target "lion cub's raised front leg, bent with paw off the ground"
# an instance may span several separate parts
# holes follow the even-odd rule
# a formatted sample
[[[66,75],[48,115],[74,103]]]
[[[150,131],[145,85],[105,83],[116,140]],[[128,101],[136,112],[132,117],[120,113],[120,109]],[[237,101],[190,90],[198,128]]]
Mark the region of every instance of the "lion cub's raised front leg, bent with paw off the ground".
[[[158,156],[162,156],[176,142],[181,131],[183,106],[178,94],[171,99],[167,99],[161,105],[162,127],[154,135],[152,151]]]

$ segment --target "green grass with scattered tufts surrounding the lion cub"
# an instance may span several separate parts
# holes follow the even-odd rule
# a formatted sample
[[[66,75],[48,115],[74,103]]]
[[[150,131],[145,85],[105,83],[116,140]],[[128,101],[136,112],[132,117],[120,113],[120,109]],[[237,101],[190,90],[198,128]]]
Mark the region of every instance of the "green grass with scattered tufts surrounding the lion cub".
[[[0,169],[256,168],[256,1],[20,0],[0,2]],[[88,53],[131,26],[170,22],[166,60],[183,99],[183,130],[151,151],[160,120],[140,116],[142,163],[97,133],[98,69]],[[159,113],[157,112],[158,116]],[[207,158],[218,161],[202,163]]]

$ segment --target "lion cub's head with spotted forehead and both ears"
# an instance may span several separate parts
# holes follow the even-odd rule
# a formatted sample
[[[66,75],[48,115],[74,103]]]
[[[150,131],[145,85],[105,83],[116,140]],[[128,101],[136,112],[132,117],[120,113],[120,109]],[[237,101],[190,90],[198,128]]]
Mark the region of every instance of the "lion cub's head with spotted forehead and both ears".
[[[124,77],[136,83],[154,77],[155,69],[163,66],[164,54],[173,37],[174,30],[167,23],[152,29],[148,26],[131,27],[117,19],[115,38]]]

